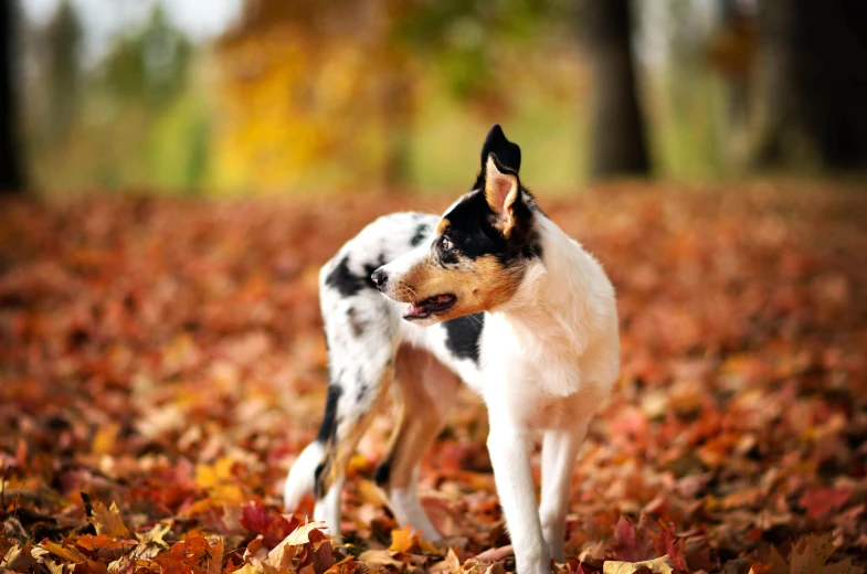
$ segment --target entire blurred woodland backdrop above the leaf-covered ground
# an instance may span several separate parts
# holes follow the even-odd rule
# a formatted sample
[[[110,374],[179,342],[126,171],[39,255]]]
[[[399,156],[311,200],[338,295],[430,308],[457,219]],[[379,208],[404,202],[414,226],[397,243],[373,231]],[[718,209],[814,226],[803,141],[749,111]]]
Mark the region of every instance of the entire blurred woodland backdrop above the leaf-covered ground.
[[[858,0],[14,3],[7,189],[454,193],[494,121],[542,191],[867,164]]]

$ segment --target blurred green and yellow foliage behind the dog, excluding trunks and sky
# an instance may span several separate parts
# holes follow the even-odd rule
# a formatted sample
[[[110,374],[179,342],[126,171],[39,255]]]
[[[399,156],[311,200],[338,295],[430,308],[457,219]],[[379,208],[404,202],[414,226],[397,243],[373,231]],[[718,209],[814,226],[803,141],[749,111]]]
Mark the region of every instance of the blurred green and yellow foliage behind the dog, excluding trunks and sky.
[[[231,62],[222,40],[193,43],[155,8],[85,64],[80,15],[63,1],[38,31],[49,47],[34,51],[38,73],[27,86],[38,187],[453,194],[472,183],[477,140],[495,121],[522,144],[522,176],[535,190],[571,193],[585,180],[592,142],[574,2],[384,2],[378,26],[359,30],[352,10],[361,4],[303,13],[277,4],[288,28],[267,35],[242,20],[229,33],[235,42],[268,41],[235,47]],[[706,38],[684,32],[695,28],[689,2],[668,4],[680,19],[668,40],[675,61],[642,83],[656,176],[731,173],[723,87],[705,60]],[[351,56],[353,50],[363,52]],[[304,57],[287,60],[293,53]],[[324,67],[317,54],[340,60]],[[268,61],[290,70],[267,72],[273,77],[263,83],[257,62]],[[240,108],[239,98],[246,98]],[[251,110],[258,124],[245,127]],[[305,124],[305,114],[318,119]],[[262,137],[272,141],[257,150]]]

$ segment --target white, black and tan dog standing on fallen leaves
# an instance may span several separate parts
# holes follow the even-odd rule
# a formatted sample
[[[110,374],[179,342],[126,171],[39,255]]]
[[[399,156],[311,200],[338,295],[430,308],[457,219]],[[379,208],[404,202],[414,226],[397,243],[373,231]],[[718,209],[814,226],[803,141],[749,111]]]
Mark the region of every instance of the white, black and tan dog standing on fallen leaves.
[[[376,480],[399,522],[436,540],[416,497],[417,465],[464,381],[488,408],[518,572],[563,561],[578,449],[620,371],[617,312],[601,265],[521,185],[520,161],[494,126],[473,191],[442,217],[382,216],[323,267],[328,395],[318,436],[286,479],[288,510],[313,491],[315,518],[339,532],[347,463],[395,381],[399,417]],[[530,468],[538,435],[540,504]]]

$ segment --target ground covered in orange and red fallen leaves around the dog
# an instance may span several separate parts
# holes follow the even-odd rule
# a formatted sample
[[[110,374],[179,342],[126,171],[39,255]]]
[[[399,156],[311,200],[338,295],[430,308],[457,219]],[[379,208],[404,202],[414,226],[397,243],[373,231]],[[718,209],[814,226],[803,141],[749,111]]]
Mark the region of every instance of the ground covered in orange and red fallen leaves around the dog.
[[[279,514],[325,402],[318,266],[378,214],[447,203],[0,204],[0,572],[514,567],[468,392],[422,472],[443,548],[397,530],[371,481],[389,417],[350,465],[342,539],[309,501]],[[543,204],[603,262],[622,325],[559,568],[861,572],[867,194],[621,185]]]

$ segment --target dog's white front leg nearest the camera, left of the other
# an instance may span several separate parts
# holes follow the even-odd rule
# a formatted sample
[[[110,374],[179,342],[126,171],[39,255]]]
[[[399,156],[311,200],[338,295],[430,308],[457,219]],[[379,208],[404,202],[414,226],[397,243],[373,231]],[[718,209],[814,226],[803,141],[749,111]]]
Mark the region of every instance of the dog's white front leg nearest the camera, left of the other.
[[[517,572],[550,574],[551,554],[539,522],[528,431],[515,425],[501,411],[490,411],[489,418],[488,451],[497,495],[515,548]]]

